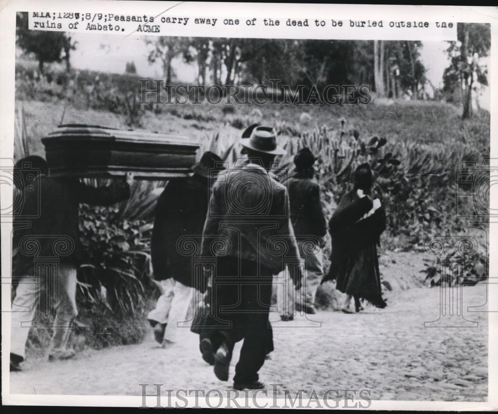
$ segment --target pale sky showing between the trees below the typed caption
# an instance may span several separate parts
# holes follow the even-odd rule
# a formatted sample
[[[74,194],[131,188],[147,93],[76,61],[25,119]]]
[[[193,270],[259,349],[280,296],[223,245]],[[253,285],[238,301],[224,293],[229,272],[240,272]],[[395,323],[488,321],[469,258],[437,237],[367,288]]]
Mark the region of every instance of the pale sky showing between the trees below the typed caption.
[[[102,72],[123,73],[127,62],[135,63],[138,75],[160,78],[162,69],[160,64],[149,65],[147,62],[147,46],[143,36],[123,38],[113,34],[75,33],[78,41],[77,50],[71,56],[72,65],[78,69],[91,69]],[[448,43],[445,41],[425,41],[421,50],[421,60],[427,70],[427,78],[435,87],[443,85],[443,72],[449,65],[445,53]],[[489,65],[489,59],[484,63]],[[177,79],[182,82],[193,82],[196,69],[186,65],[179,59],[174,62]],[[480,98],[483,108],[489,110],[489,88],[485,88]]]

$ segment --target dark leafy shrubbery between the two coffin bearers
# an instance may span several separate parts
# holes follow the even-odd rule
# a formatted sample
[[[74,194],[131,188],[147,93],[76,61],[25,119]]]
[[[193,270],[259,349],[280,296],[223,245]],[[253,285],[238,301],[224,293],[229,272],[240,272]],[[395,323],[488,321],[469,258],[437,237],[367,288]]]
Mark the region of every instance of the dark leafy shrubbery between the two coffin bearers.
[[[83,265],[78,275],[79,321],[94,348],[137,343],[146,329],[150,278],[150,227],[128,221],[119,207],[80,207]]]

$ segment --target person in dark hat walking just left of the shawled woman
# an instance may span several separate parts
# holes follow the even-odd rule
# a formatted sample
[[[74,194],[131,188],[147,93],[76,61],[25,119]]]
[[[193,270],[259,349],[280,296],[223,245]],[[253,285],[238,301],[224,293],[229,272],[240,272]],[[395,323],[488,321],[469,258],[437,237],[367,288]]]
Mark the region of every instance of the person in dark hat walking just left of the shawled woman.
[[[296,296],[295,310],[305,313],[315,313],[315,293],[323,276],[323,237],[327,234],[320,186],[313,179],[313,165],[317,159],[309,148],[301,148],[294,156],[294,174],[285,183],[289,192],[292,227],[301,255],[306,260],[304,294]],[[283,320],[292,319],[293,311],[282,311]]]

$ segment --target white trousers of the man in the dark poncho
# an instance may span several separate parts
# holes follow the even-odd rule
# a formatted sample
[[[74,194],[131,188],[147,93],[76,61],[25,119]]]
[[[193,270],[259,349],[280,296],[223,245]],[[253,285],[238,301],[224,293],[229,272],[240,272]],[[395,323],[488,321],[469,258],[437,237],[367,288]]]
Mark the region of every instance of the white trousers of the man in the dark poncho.
[[[189,316],[192,314],[192,296],[194,289],[186,286],[172,277],[157,282],[161,296],[157,299],[155,309],[152,309],[147,319],[161,324],[167,324],[164,339],[178,342],[185,332],[189,332]]]

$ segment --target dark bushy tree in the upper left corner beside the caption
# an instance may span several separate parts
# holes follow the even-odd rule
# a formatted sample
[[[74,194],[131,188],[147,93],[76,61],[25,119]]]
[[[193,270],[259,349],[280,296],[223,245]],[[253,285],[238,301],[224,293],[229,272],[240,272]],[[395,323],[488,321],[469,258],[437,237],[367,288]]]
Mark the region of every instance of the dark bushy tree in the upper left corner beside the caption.
[[[44,74],[45,62],[60,62],[61,53],[67,38],[64,32],[28,29],[27,12],[18,12],[16,19],[17,44],[28,53],[33,53],[38,60],[38,68]],[[69,54],[68,62],[69,62]]]

